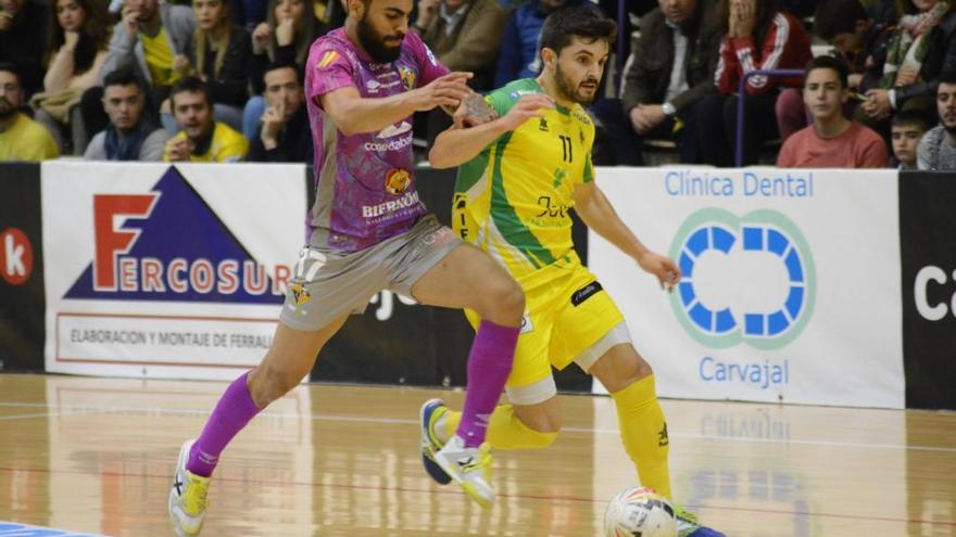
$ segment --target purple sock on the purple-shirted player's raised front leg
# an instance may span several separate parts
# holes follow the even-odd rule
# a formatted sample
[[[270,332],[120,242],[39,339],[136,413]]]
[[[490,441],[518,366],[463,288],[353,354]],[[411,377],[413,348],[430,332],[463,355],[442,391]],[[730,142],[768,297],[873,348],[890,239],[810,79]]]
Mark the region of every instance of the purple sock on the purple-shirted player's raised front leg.
[[[456,433],[465,440],[465,447],[485,442],[491,412],[512,372],[519,331],[519,327],[501,327],[491,321],[478,325],[468,353],[468,391]]]

